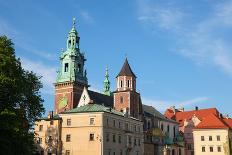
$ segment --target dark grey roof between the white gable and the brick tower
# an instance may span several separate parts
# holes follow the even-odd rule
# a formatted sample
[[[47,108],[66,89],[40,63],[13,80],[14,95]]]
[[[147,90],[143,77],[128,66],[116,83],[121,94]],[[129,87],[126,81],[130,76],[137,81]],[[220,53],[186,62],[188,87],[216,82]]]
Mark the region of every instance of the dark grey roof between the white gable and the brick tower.
[[[106,107],[113,107],[113,96],[101,94],[92,90],[88,90],[88,94],[91,100],[96,104],[101,104]]]

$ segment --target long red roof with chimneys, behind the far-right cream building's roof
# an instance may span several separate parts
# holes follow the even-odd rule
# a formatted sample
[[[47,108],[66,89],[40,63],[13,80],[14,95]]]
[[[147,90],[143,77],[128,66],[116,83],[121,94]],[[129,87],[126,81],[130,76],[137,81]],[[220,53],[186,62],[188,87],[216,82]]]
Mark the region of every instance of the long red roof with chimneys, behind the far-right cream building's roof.
[[[219,116],[219,112],[216,108],[208,108],[208,109],[199,109],[192,111],[178,111],[176,110],[175,114],[172,109],[167,109],[164,113],[164,116],[170,119],[174,119],[180,123],[180,126],[183,126],[184,120],[190,120],[195,115],[198,119],[202,120],[209,114],[214,114]]]

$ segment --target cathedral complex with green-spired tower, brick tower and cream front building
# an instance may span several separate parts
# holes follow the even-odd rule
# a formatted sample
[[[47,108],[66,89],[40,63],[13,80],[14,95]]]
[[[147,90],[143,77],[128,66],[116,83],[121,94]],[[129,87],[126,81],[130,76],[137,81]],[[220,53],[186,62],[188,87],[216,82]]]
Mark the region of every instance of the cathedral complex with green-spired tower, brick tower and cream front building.
[[[108,68],[103,91],[90,90],[75,19],[59,60],[54,111],[35,123],[38,154],[182,154],[178,123],[142,104],[127,58],[116,76],[114,91]]]

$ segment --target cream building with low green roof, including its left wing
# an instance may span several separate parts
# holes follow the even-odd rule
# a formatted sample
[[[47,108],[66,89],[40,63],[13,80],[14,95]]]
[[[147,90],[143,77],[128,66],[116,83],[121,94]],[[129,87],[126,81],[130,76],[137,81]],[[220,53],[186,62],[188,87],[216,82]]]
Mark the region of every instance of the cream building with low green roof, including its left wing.
[[[143,123],[114,109],[88,104],[55,118],[59,119],[46,118],[36,123],[40,154],[141,155],[144,152]],[[51,121],[56,123],[51,125]],[[51,127],[58,133],[50,137],[52,143],[57,143],[56,150],[48,143],[46,134]]]

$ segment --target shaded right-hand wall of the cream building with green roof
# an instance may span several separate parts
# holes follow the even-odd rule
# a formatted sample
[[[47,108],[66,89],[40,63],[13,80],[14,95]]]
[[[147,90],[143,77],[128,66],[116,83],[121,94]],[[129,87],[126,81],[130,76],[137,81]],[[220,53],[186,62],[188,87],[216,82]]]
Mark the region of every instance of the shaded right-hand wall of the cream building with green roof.
[[[108,124],[107,124],[108,119]],[[120,155],[121,151],[123,155],[126,155],[126,150],[130,147],[130,155],[142,155],[144,153],[143,144],[143,123],[117,115],[111,115],[109,113],[104,113],[104,154],[108,155]],[[115,121],[115,126],[114,126]],[[120,122],[120,127],[119,127]],[[126,130],[126,125],[128,124],[129,130]],[[135,130],[136,126],[136,130]],[[106,135],[109,134],[109,141],[106,141]],[[116,142],[113,142],[113,135],[116,136]],[[121,135],[121,143],[118,142],[118,136]],[[129,144],[129,136],[131,137],[131,145]],[[136,139],[136,145],[134,140]],[[139,145],[140,140],[140,145]]]

